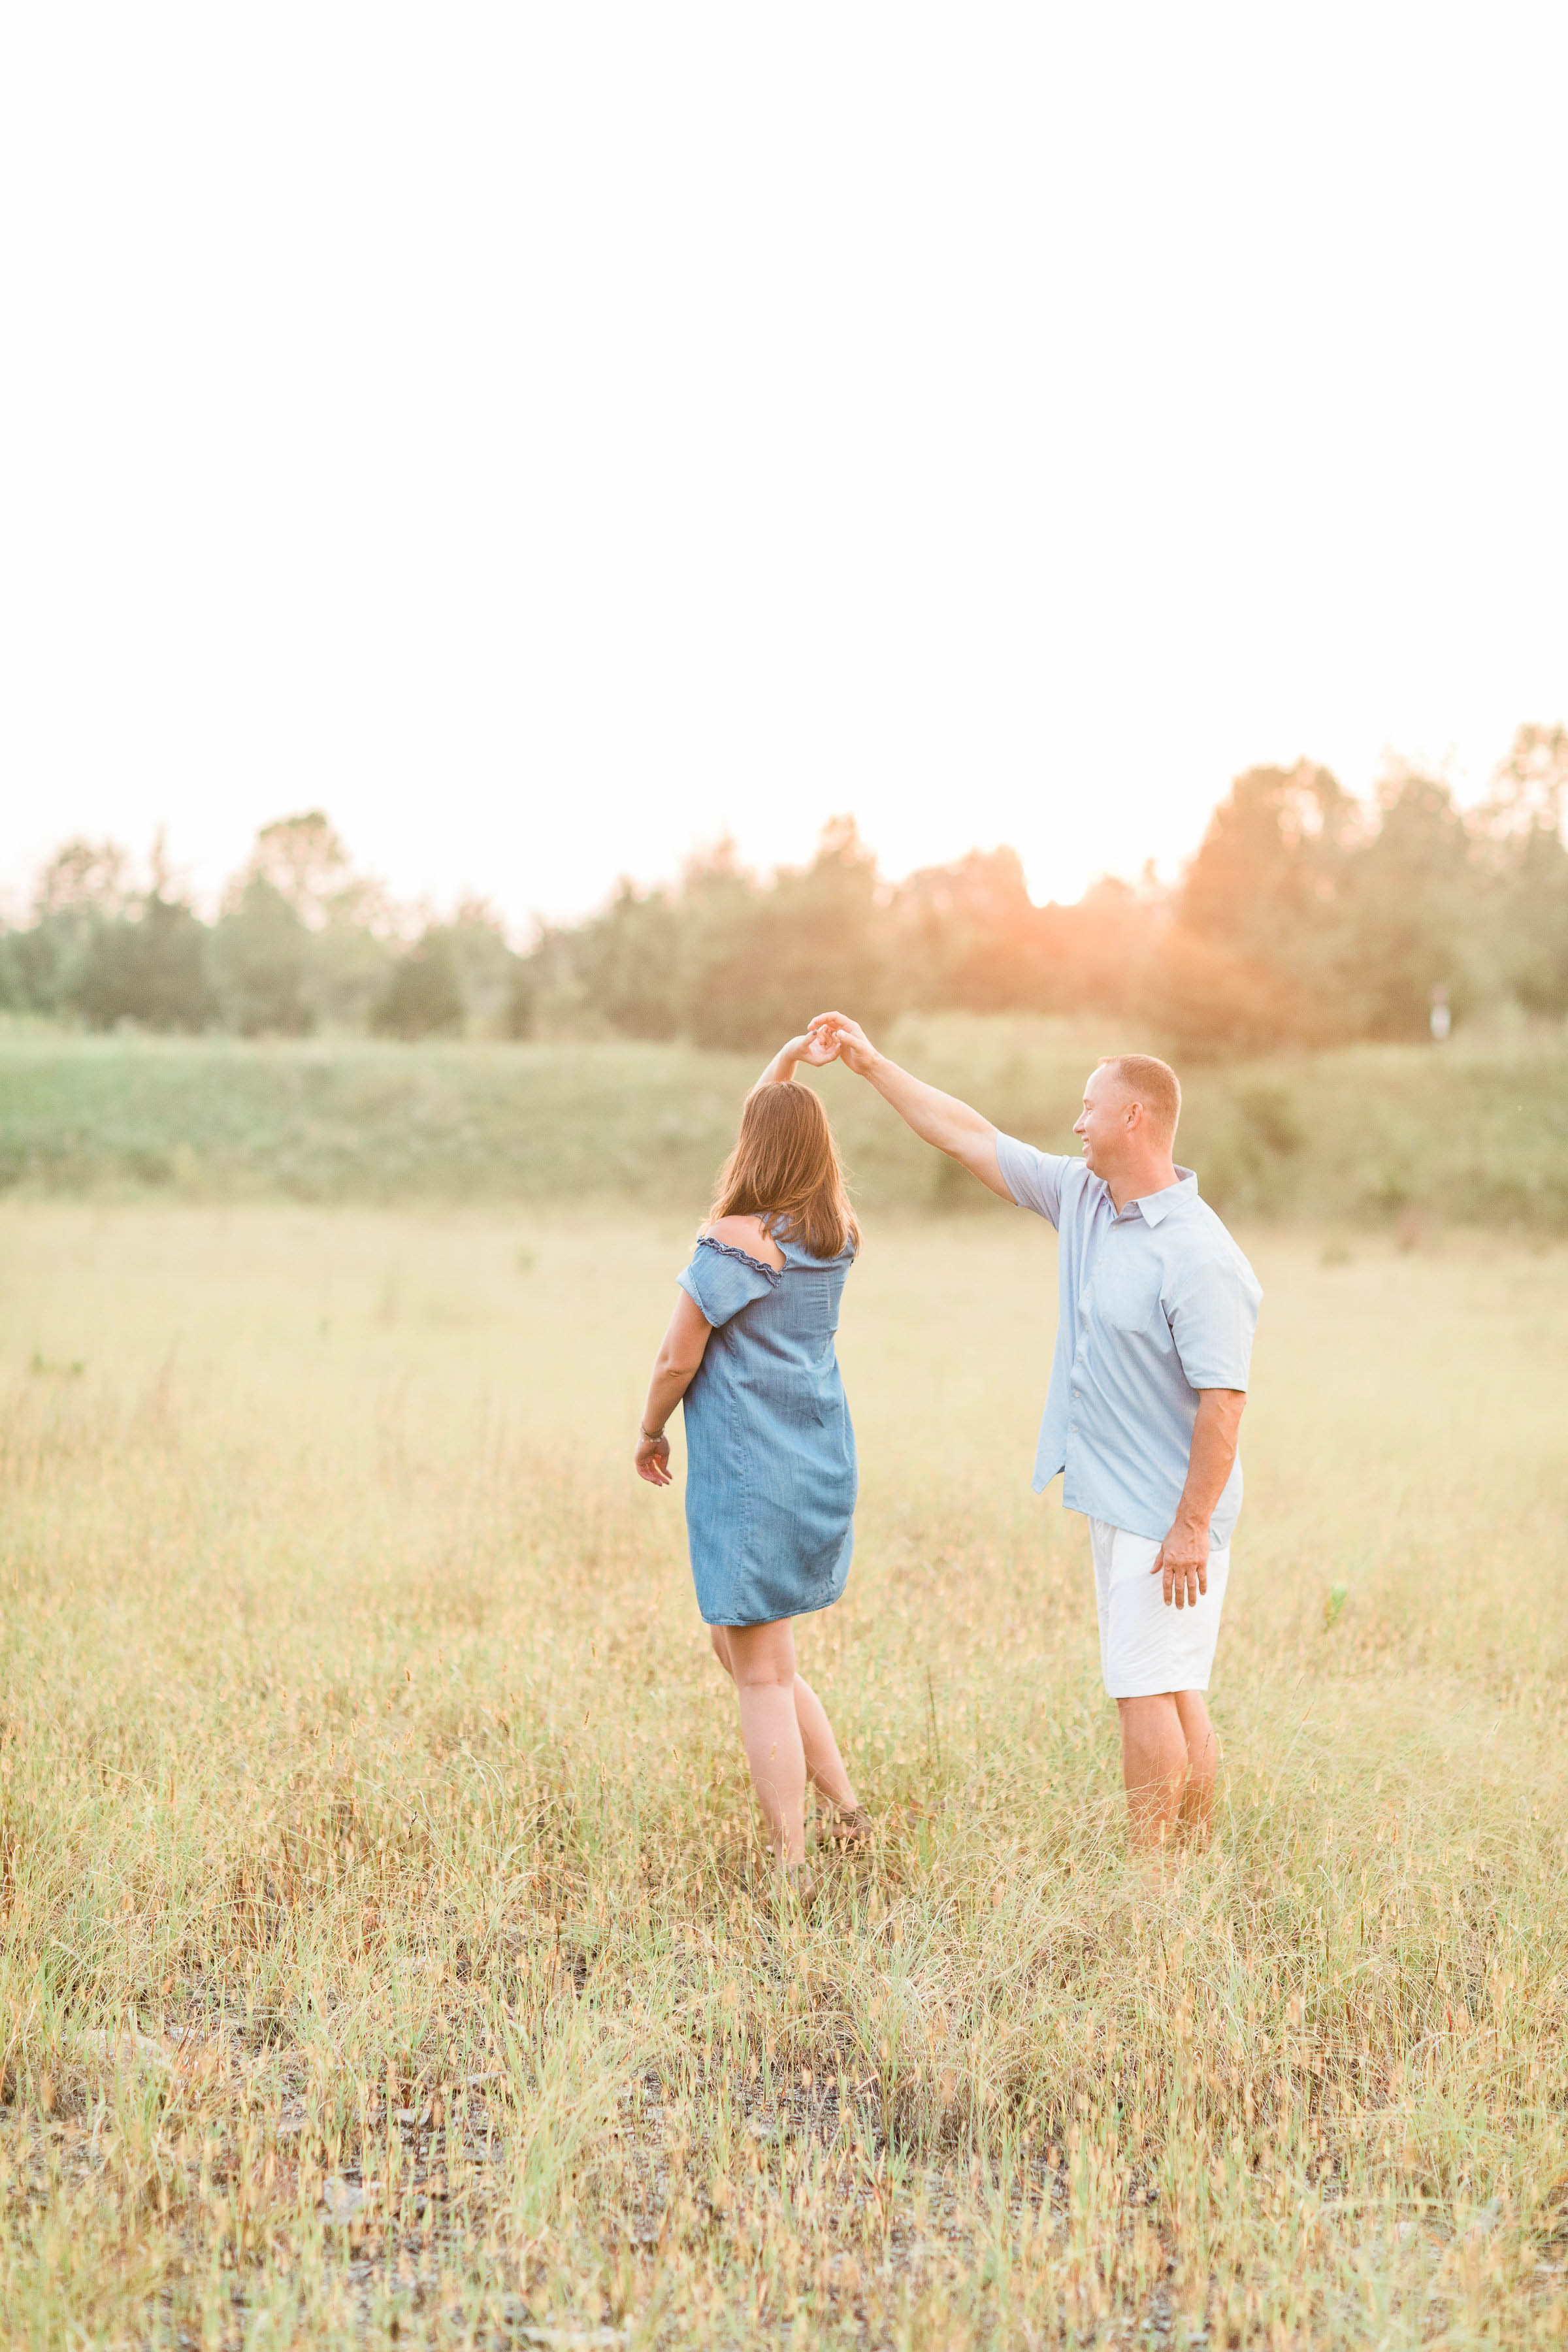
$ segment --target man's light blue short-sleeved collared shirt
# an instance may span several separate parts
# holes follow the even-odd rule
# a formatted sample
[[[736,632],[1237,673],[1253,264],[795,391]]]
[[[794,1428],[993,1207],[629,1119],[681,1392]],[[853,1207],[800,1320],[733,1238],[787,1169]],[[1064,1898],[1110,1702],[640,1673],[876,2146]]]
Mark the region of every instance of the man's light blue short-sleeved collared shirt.
[[[1157,1543],[1171,1534],[1201,1388],[1246,1388],[1262,1289],[1199,1200],[1192,1169],[1121,1214],[1081,1160],[997,1136],[997,1164],[1020,1209],[1058,1232],[1060,1322],[1034,1494],[1058,1470],[1063,1503]],[[1241,1456],[1208,1526],[1229,1543]]]

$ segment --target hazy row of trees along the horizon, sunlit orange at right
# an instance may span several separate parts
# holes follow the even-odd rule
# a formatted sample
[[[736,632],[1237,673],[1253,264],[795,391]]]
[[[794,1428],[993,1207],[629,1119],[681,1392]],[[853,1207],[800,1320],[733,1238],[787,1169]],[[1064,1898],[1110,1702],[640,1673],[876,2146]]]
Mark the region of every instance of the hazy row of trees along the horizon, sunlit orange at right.
[[[68,842],[0,931],[0,1004],[113,1028],[306,1035],[623,1035],[759,1049],[839,1002],[900,1011],[1098,1011],[1187,1054],[1427,1035],[1514,1004],[1568,1016],[1568,729],[1523,727],[1486,802],[1394,769],[1356,802],[1312,762],[1255,767],[1180,884],[1105,880],[1034,906],[1011,849],[905,882],[851,818],[802,868],[731,847],[668,887],[623,882],[527,948],[468,901],[411,920],[322,814],[266,826],[205,922],[160,856]]]

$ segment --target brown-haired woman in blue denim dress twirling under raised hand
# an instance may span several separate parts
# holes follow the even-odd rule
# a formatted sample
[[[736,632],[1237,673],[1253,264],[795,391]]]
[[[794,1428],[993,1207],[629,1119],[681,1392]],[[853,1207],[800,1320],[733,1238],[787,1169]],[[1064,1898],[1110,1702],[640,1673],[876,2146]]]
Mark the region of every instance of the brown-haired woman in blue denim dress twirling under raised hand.
[[[856,1541],[856,1437],[832,1336],[860,1235],[827,1112],[795,1084],[799,1061],[835,1051],[792,1037],[748,1094],[637,1439],[637,1475],[668,1486],[665,1421],[684,1399],[696,1602],[736,1684],[752,1785],[790,1879],[806,1780],[830,1806],[825,1837],[870,1837],[823,1703],[795,1672],[790,1625],[837,1602]]]

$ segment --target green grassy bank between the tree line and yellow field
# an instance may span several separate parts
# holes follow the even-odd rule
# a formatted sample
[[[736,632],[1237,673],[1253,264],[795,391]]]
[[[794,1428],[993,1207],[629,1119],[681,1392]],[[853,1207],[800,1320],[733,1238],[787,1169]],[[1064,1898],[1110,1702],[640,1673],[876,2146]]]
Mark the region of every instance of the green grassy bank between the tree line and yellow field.
[[[882,1040],[999,1127],[1072,1150],[1124,1023],[903,1021]],[[0,1021],[0,1192],[576,1200],[696,1214],[762,1056],[682,1044],[82,1037]],[[1187,1068],[1182,1152],[1237,1216],[1568,1232],[1568,1042],[1460,1035]],[[983,1195],[844,1070],[820,1073],[860,1202]]]

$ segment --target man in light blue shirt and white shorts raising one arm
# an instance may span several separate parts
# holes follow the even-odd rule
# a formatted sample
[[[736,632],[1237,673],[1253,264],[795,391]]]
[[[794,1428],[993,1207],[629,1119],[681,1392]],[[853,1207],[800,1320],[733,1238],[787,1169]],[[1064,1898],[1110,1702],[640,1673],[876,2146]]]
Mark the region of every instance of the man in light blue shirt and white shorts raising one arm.
[[[910,1077],[846,1014],[839,1058],[926,1143],[1058,1230],[1060,1322],[1034,1491],[1088,1515],[1105,1689],[1133,1839],[1204,1835],[1220,1743],[1204,1693],[1241,1510],[1237,1435],[1262,1291],[1171,1157],[1182,1091],[1152,1054],[1103,1061],[1074,1136],[1037,1152]]]

